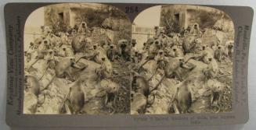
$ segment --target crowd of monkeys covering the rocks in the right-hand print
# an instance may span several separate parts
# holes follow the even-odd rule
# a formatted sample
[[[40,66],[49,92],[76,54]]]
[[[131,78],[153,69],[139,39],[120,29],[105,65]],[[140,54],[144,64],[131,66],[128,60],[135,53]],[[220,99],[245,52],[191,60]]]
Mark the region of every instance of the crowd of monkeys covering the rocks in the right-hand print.
[[[186,33],[165,33],[163,28],[156,26],[155,36],[149,38],[144,44],[142,51],[132,50],[132,59],[139,65],[135,67],[137,74],[133,76],[132,90],[132,114],[146,113],[146,107],[150,107],[152,101],[148,100],[153,91],[158,89],[160,83],[165,79],[177,79],[181,82],[177,87],[175,96],[171,100],[170,109],[174,109],[176,114],[193,112],[189,108],[192,106],[192,90],[189,84],[193,83],[192,78],[189,78],[189,72],[199,67],[194,65],[189,60],[201,61],[206,68],[202,70],[204,74],[204,83],[209,79],[218,79],[222,71],[218,67],[218,62],[221,63],[233,58],[233,40],[221,40],[216,37],[215,41],[202,41],[202,33],[199,25],[196,23],[193,28],[186,30]],[[213,29],[212,29],[213,30]],[[214,36],[215,37],[215,36]],[[150,78],[142,72],[143,66],[154,61],[155,67],[151,70]],[[147,68],[145,67],[145,71]],[[156,86],[149,86],[149,81],[157,73],[164,72],[162,78]],[[193,75],[190,73],[190,75]],[[229,74],[227,76],[232,76]],[[148,79],[146,79],[148,78]],[[171,87],[171,86],[168,86]],[[216,86],[211,88],[211,105],[218,108],[220,111],[220,101],[222,99],[223,87]],[[140,100],[140,101],[138,101]]]

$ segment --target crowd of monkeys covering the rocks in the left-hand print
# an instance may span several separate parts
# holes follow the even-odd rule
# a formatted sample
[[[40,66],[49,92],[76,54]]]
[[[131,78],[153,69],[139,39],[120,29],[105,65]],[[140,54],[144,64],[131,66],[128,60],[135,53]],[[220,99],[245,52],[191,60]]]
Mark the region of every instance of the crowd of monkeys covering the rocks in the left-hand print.
[[[121,58],[122,55],[125,55],[123,58],[127,58],[126,53],[129,53],[129,50],[121,49],[117,52],[117,47],[125,48],[128,40],[119,40],[117,45],[109,38],[104,38],[100,43],[92,43],[90,34],[85,22],[81,22],[78,28],[68,30],[67,33],[52,33],[51,27],[41,26],[41,37],[31,42],[27,51],[24,51],[24,90],[38,97],[44,90],[49,89],[56,78],[70,80],[70,90],[63,100],[63,106],[59,108],[59,113],[63,113],[65,109],[65,113],[80,114],[85,105],[85,81],[95,80],[106,91],[104,105],[114,112],[114,103],[120,86],[112,81],[114,71],[111,61],[117,57]],[[81,59],[94,61],[99,65],[91,76],[84,72],[90,65],[79,64]],[[42,64],[38,67],[36,64],[39,61],[45,61],[45,72],[41,76],[35,76],[38,74],[38,68],[44,63],[40,62]],[[47,72],[52,75],[52,79],[49,79],[46,86],[41,86],[41,80],[45,78]]]

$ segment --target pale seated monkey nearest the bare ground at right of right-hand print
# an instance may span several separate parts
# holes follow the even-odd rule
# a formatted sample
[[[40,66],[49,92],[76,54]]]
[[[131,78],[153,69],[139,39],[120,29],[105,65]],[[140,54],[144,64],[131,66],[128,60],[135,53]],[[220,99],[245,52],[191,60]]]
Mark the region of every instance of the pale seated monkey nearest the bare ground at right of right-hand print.
[[[210,63],[207,65],[206,69],[203,69],[204,76],[206,79],[214,79],[218,74],[218,63],[215,58],[208,58]]]

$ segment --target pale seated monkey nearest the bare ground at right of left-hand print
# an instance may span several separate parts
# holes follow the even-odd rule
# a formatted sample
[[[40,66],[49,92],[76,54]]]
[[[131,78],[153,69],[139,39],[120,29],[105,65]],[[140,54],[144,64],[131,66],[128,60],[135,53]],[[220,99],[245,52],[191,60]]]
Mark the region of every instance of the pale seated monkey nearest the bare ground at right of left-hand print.
[[[113,75],[113,66],[108,58],[102,58],[102,64],[98,69],[96,69],[96,73],[100,79],[110,79]]]

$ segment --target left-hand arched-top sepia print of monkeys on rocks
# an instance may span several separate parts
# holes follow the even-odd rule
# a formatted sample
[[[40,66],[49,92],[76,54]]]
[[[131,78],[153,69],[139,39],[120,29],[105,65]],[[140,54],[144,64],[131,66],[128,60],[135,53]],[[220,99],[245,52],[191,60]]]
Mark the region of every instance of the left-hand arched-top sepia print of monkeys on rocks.
[[[112,5],[34,10],[24,28],[23,114],[130,114],[131,32]]]

